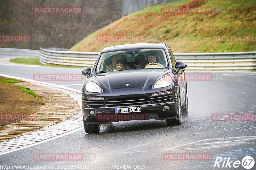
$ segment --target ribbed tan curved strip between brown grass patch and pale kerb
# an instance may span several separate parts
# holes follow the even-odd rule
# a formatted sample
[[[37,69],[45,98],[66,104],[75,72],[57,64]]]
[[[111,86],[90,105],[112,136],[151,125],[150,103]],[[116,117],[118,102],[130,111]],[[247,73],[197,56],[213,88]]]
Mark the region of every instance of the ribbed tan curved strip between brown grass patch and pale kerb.
[[[0,126],[0,142],[60,123],[80,112],[78,103],[62,92],[28,82],[13,84],[34,91],[44,105],[36,113],[29,116],[32,117],[29,121],[18,121]]]

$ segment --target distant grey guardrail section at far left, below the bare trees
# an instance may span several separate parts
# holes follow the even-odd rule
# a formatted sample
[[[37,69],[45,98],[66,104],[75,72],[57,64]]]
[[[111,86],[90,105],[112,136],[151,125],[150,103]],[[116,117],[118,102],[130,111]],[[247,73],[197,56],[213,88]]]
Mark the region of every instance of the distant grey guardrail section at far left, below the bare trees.
[[[39,50],[28,50],[19,48],[0,48],[0,55],[12,57],[39,57]]]

